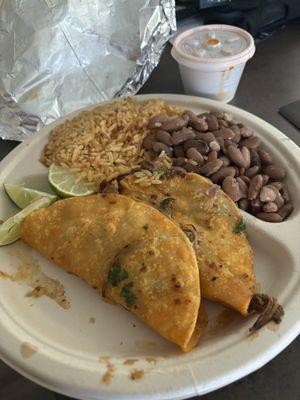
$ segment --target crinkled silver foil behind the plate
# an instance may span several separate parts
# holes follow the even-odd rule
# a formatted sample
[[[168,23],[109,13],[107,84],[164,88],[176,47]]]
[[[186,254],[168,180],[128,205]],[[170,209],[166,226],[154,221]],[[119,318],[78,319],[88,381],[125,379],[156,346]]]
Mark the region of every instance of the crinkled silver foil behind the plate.
[[[175,31],[174,0],[0,0],[0,136],[136,93]]]

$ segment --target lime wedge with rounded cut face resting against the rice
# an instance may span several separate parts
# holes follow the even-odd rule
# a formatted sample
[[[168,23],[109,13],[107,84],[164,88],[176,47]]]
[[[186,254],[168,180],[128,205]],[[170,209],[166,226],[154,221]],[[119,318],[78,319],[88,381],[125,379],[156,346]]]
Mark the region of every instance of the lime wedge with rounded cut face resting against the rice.
[[[95,193],[88,182],[79,178],[77,172],[52,164],[49,168],[48,180],[52,190],[60,197],[80,197]]]

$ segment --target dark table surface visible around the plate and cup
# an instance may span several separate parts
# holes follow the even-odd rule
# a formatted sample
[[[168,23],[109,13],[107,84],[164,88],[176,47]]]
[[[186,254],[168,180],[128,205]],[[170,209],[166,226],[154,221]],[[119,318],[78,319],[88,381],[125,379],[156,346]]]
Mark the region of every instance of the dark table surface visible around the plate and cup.
[[[278,109],[300,98],[299,38],[300,25],[293,23],[258,42],[255,56],[247,63],[237,94],[231,102],[270,122],[298,145],[300,131],[285,120]],[[169,45],[140,93],[184,93]],[[0,140],[0,159],[17,144]],[[225,388],[201,396],[201,400],[300,400],[299,360],[300,337],[260,370]],[[69,398],[32,383],[0,362],[0,399]]]

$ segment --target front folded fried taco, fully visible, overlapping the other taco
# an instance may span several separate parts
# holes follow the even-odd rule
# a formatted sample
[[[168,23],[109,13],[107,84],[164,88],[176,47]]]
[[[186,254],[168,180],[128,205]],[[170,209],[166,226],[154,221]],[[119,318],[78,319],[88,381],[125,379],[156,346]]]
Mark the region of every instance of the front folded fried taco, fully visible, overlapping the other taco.
[[[26,217],[21,238],[183,351],[197,344],[195,253],[153,207],[118,194],[65,199]]]

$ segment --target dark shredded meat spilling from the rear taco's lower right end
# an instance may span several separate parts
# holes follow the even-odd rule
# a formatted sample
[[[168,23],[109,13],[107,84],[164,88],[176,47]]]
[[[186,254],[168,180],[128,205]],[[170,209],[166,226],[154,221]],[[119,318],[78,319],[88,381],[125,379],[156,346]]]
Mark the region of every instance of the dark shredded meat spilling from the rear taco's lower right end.
[[[278,303],[275,297],[263,293],[253,295],[248,310],[249,313],[260,313],[255,324],[250,328],[250,332],[257,331],[270,321],[279,324],[284,315],[283,307]]]

